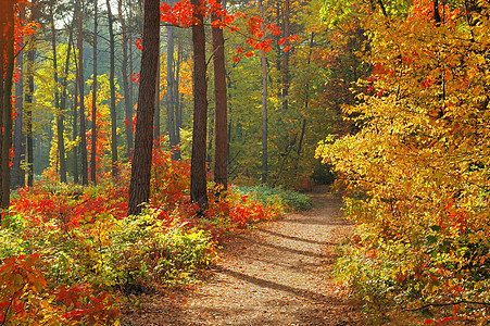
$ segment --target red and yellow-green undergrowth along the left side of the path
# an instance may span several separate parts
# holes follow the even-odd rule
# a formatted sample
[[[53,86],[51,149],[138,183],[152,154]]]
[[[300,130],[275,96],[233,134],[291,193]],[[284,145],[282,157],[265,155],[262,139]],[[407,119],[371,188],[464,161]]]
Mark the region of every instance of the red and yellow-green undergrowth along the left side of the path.
[[[223,237],[305,206],[262,187],[216,198],[210,184],[198,218],[188,162],[162,148],[153,158],[151,200],[138,216],[126,216],[127,177],[90,187],[48,177],[13,193],[0,227],[0,325],[116,325],[116,298],[194,281]]]

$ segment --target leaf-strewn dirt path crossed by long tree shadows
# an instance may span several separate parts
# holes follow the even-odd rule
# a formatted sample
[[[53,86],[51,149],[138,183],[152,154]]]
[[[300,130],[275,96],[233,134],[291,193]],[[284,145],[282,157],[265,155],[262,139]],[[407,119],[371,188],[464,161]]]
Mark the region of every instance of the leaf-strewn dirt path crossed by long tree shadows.
[[[225,240],[202,284],[134,297],[122,325],[355,325],[355,303],[331,276],[335,247],[352,231],[341,200],[322,189],[314,208]]]

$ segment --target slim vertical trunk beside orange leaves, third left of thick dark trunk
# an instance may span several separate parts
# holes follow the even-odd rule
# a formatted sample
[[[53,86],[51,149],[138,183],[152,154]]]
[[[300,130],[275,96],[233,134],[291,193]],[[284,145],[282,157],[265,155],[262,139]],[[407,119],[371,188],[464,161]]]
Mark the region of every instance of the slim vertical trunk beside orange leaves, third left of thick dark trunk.
[[[93,76],[92,76],[92,138],[90,149],[90,181],[97,185],[97,33],[99,1],[93,3]]]

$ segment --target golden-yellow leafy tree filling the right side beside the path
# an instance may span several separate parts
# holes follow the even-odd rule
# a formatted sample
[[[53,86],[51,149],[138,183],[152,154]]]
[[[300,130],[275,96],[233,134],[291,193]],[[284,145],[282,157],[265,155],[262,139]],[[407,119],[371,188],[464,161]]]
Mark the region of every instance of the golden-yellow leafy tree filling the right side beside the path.
[[[317,149],[357,193],[347,212],[366,227],[353,255],[369,271],[356,260],[355,277],[380,279],[390,306],[443,302],[456,315],[458,302],[488,301],[489,4],[465,4],[365,8],[373,72],[343,109],[357,129]]]

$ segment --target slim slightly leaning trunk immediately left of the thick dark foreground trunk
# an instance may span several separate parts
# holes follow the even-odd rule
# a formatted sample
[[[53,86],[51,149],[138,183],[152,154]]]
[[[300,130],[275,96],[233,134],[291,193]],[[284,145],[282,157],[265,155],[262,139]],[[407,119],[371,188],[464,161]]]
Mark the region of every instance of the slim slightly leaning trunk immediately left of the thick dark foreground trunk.
[[[131,150],[133,150],[133,130],[131,130],[131,122],[133,122],[133,92],[130,90],[129,80],[128,80],[128,58],[127,58],[127,30],[126,30],[126,21],[123,16],[123,0],[118,0],[117,10],[120,15],[121,23],[121,37],[123,42],[123,65],[122,65],[122,79],[123,79],[123,91],[124,91],[124,112],[126,117],[126,146],[127,146],[127,158],[130,159]],[[131,72],[133,73],[133,72]]]

